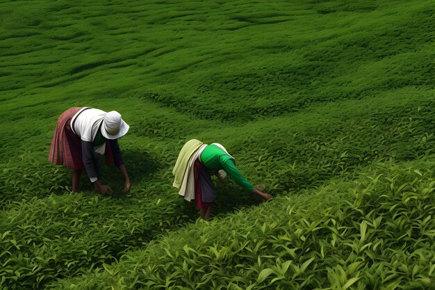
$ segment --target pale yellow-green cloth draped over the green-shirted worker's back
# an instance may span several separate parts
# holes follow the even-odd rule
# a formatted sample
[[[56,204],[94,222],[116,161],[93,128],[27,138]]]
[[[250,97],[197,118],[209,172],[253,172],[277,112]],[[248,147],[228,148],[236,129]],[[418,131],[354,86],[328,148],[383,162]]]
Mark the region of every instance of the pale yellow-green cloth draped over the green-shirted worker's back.
[[[189,140],[181,149],[172,170],[174,175],[172,186],[180,188],[179,195],[183,195],[184,199],[189,202],[195,200],[195,160],[201,155],[206,146],[199,140]]]

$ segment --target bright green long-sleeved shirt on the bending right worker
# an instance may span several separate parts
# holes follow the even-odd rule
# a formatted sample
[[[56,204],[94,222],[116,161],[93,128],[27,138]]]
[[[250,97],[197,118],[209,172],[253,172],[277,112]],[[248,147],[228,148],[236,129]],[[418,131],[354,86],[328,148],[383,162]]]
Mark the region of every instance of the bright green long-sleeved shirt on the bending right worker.
[[[254,191],[254,186],[236,168],[234,159],[220,147],[207,145],[201,153],[201,161],[208,170],[217,171],[223,169],[237,184],[249,192]]]

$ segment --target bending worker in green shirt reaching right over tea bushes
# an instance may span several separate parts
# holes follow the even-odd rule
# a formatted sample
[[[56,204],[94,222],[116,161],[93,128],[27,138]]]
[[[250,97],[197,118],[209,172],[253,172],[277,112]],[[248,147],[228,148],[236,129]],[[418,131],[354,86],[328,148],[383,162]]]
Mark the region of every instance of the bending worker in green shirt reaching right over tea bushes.
[[[211,204],[215,200],[211,173],[217,174],[220,179],[229,175],[250,193],[265,200],[272,198],[272,195],[258,191],[247,181],[236,168],[233,156],[219,143],[206,145],[196,139],[189,140],[181,149],[172,173],[175,176],[173,186],[180,188],[179,194],[186,200],[195,199],[204,220],[210,218]]]

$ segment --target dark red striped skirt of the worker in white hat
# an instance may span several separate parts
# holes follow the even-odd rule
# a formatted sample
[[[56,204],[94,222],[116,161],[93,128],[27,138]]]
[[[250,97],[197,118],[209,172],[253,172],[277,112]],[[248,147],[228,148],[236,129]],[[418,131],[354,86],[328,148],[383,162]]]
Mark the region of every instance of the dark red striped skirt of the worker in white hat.
[[[70,108],[60,115],[51,141],[49,161],[64,165],[67,168],[83,169],[83,155],[81,154],[81,139],[71,129],[71,119],[80,111],[81,107]],[[113,154],[106,141],[106,164],[112,165]]]

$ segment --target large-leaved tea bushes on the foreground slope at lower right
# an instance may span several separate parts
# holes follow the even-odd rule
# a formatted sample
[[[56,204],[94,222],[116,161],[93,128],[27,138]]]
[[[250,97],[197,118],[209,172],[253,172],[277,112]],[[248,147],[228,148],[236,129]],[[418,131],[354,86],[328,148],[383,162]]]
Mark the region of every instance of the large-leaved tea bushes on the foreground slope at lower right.
[[[49,289],[434,289],[434,168],[379,163],[351,182],[198,220]]]

